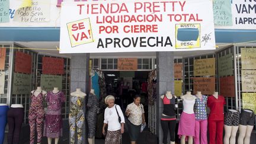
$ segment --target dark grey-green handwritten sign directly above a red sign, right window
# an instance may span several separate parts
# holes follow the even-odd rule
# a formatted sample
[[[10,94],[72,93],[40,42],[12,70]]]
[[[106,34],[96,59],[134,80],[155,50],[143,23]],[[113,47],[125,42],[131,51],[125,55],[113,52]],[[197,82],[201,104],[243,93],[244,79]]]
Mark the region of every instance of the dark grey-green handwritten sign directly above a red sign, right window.
[[[219,76],[233,75],[233,55],[229,53],[228,55],[218,57],[218,71]]]

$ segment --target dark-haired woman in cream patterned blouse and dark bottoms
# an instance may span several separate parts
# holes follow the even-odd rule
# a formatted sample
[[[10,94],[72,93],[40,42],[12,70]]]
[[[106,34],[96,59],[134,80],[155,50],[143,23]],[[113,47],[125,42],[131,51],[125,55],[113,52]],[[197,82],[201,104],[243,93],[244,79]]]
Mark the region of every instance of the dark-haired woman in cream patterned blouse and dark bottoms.
[[[128,116],[129,124],[129,136],[131,144],[136,144],[137,137],[140,133],[141,124],[145,123],[143,105],[140,104],[140,96],[136,95],[132,104],[127,105],[126,116]]]

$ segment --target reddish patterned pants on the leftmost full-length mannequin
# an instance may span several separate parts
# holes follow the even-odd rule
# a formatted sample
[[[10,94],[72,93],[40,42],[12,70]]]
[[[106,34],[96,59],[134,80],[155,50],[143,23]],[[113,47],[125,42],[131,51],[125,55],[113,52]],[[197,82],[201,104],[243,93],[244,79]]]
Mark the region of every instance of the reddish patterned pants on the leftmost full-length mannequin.
[[[43,120],[44,113],[37,110],[31,110],[28,114],[28,123],[30,124],[30,144],[34,144],[35,131],[37,130],[37,143],[41,143],[41,138],[43,136]]]

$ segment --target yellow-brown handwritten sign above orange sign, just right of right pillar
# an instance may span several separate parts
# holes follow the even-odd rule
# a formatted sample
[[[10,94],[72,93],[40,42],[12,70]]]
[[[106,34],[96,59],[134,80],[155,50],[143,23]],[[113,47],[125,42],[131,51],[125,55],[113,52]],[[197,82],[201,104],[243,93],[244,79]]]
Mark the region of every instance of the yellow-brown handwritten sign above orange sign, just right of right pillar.
[[[215,58],[195,59],[194,76],[215,75]]]

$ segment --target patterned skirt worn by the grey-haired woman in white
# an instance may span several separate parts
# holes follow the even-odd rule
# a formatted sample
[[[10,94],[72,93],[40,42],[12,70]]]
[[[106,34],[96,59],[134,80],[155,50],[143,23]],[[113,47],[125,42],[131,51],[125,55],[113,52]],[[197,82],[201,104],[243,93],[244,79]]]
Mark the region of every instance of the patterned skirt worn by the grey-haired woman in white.
[[[121,144],[121,130],[107,131],[105,144]]]

